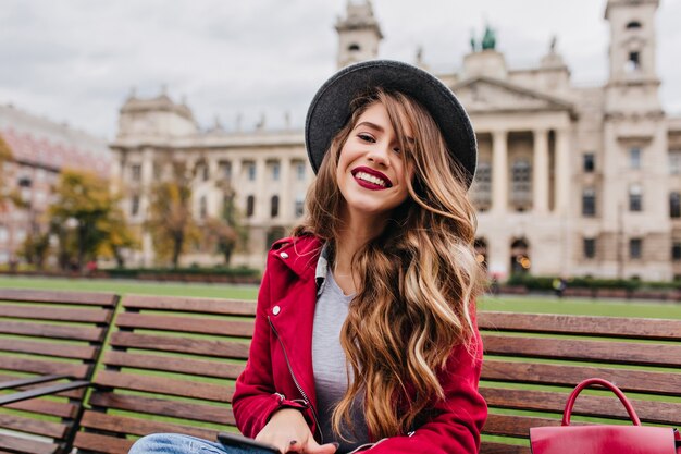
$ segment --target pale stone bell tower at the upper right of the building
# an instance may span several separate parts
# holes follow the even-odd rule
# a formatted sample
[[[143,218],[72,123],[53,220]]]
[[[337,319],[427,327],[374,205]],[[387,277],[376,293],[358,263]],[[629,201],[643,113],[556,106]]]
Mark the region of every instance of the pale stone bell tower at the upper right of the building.
[[[608,0],[608,112],[659,112],[655,14],[659,0]]]

